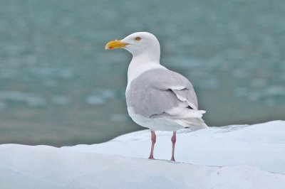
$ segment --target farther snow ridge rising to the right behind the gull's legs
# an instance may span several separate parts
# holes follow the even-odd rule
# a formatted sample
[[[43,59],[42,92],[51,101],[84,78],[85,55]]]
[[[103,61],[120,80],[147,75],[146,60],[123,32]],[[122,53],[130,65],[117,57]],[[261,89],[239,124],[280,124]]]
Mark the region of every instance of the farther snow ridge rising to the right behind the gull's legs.
[[[157,132],[155,158],[171,158],[171,132]],[[137,131],[103,144],[64,147],[88,153],[147,158],[150,131]],[[211,127],[199,131],[180,130],[175,147],[176,161],[207,166],[254,166],[285,174],[285,121],[255,125]]]

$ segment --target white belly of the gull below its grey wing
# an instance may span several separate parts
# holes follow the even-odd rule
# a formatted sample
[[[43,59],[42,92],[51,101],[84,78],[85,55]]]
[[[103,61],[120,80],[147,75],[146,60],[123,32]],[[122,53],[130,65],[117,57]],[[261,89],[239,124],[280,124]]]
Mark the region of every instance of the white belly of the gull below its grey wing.
[[[140,126],[149,128],[152,131],[177,131],[183,129],[184,126],[177,124],[175,120],[165,117],[148,118],[143,117],[140,114],[135,114],[133,108],[128,107],[128,113],[130,117]]]

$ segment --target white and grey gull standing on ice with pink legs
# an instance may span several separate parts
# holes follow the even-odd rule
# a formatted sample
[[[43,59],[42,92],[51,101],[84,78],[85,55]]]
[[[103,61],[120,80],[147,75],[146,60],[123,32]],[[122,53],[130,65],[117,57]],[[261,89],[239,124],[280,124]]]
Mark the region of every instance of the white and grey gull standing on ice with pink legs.
[[[173,131],[171,161],[175,161],[176,131],[207,128],[202,119],[205,111],[198,110],[191,82],[160,65],[160,43],[152,33],[132,33],[105,45],[105,49],[115,48],[124,48],[133,55],[125,97],[133,121],[151,131],[149,159],[154,159],[155,131]]]

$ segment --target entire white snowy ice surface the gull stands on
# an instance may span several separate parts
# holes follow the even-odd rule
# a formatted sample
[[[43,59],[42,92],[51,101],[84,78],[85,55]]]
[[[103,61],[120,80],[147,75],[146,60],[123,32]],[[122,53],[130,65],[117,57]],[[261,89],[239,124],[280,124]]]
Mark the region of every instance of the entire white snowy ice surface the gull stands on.
[[[0,188],[284,188],[285,121],[157,132],[103,144],[0,145]]]

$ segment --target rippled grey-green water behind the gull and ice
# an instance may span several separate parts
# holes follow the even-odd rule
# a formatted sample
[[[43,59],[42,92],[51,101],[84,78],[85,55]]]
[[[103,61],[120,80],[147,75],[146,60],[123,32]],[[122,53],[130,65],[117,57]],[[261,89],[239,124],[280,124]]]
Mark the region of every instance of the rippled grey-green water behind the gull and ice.
[[[142,129],[128,117],[130,54],[154,33],[207,124],[285,119],[285,1],[0,0],[0,143],[91,144]]]

